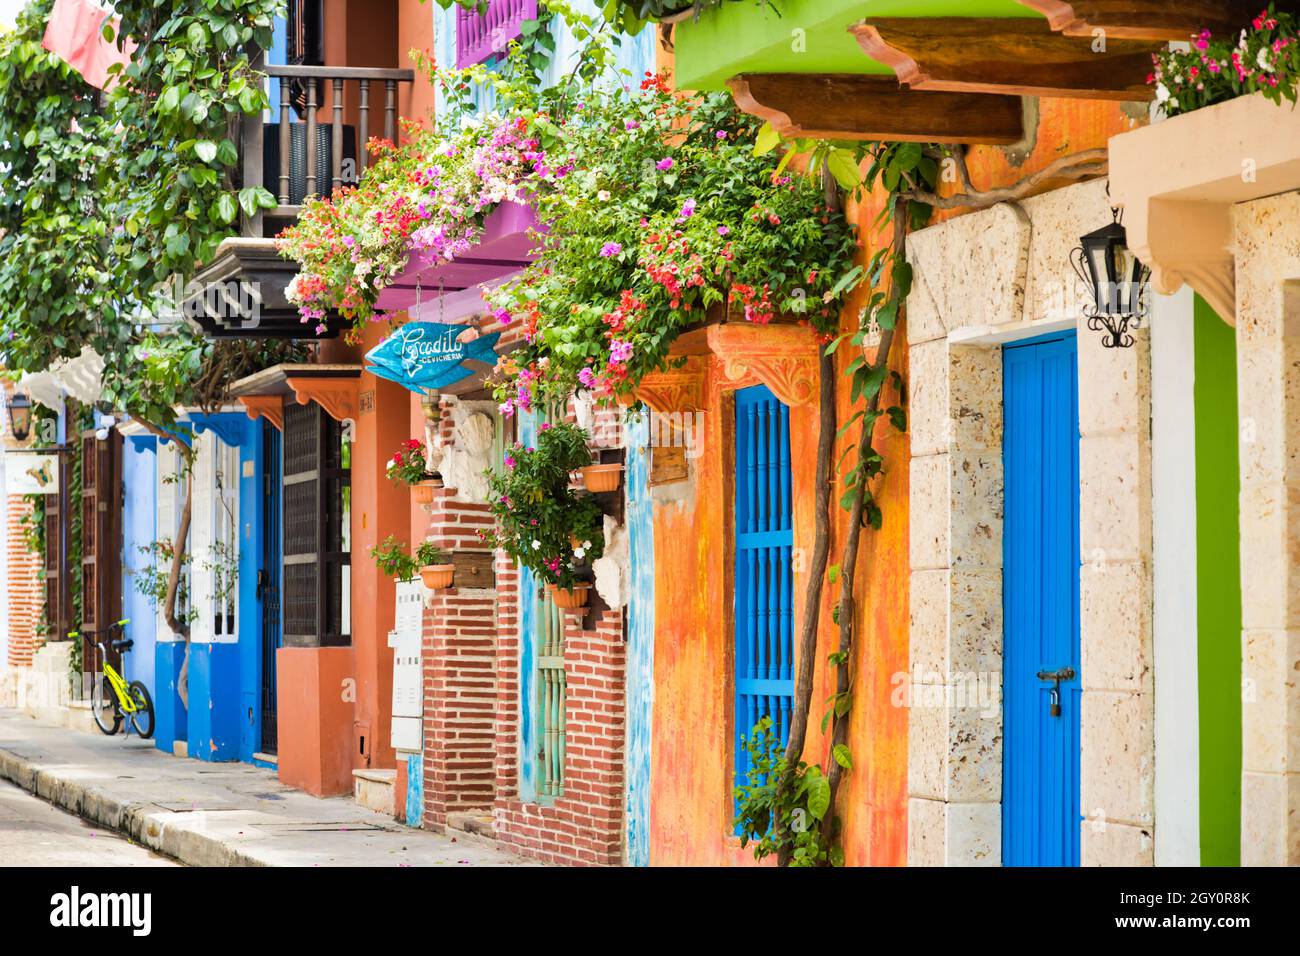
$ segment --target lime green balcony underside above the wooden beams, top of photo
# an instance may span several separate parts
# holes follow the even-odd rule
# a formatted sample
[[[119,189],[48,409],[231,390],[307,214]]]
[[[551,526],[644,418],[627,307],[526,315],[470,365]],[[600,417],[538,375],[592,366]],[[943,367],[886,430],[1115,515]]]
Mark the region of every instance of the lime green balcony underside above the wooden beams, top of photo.
[[[849,33],[864,17],[1036,17],[1017,0],[759,0],[728,3],[673,34],[677,86],[722,90],[737,73],[889,73]]]

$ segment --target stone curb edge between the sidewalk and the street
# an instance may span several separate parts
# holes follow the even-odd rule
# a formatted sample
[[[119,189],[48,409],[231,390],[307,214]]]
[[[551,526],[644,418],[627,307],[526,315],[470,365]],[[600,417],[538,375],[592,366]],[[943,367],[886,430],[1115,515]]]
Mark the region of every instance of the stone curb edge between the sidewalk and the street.
[[[122,803],[99,787],[66,779],[57,770],[43,769],[3,748],[0,748],[0,778],[48,804],[118,832],[187,866],[266,865],[208,834],[181,825],[174,819],[176,814],[168,810],[148,803]]]

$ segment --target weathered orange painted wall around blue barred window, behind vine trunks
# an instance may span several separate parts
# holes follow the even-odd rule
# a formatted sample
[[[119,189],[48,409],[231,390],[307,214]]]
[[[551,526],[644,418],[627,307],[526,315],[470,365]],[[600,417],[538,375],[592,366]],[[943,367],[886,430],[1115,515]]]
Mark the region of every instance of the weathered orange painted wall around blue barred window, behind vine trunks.
[[[1009,185],[1054,160],[1080,150],[1105,146],[1110,135],[1140,121],[1118,104],[1080,100],[1041,100],[1037,137],[1020,161],[993,147],[971,151],[970,170],[976,189]],[[1063,183],[1048,183],[1050,189]],[[945,193],[954,191],[945,187]],[[871,235],[880,196],[850,211],[862,229],[863,252],[870,255],[883,235]],[[942,217],[961,215],[945,213]],[[942,217],[936,217],[942,219]],[[1101,224],[1098,224],[1101,225]],[[859,293],[859,299],[862,294]],[[855,324],[859,302],[845,311]],[[898,329],[890,367],[907,377],[906,328]],[[840,351],[841,378],[850,360]],[[732,403],[716,381],[710,384],[706,453],[696,462],[694,488],[681,501],[660,503],[654,512],[655,540],[655,659],[654,728],[650,796],[650,860],[653,865],[751,864],[753,856],[732,836],[731,760],[732,698],[732,568],[731,471]],[[887,393],[892,403],[897,395]],[[852,407],[848,389],[840,393],[840,421]],[[811,551],[814,528],[815,407],[792,408],[790,440],[794,497],[794,546]],[[850,436],[852,437],[852,436]],[[863,535],[855,602],[858,630],[853,658],[854,706],[849,747],[855,769],[845,777],[837,810],[844,819],[842,845],[849,865],[897,866],[907,856],[907,713],[892,696],[909,670],[909,462],[906,434],[879,425],[876,447],[887,471],[875,492],[884,527]],[[841,446],[842,447],[842,446]],[[837,447],[836,454],[841,447]],[[685,485],[677,488],[684,489]],[[836,483],[832,501],[842,492]],[[831,562],[836,563],[846,533],[845,512],[833,507]],[[806,572],[796,575],[796,622],[803,613]],[[838,588],[823,591],[824,606],[818,646],[818,685],[805,760],[829,766],[828,744],[820,732],[823,701],[833,692],[826,656],[838,644],[831,606]]]

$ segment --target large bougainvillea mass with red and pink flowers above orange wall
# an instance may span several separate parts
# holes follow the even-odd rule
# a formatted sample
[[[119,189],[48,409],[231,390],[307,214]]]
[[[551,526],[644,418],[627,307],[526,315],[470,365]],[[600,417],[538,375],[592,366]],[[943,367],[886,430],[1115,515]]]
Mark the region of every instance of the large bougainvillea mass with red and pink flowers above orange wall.
[[[537,260],[489,297],[525,345],[494,378],[503,414],[590,390],[632,397],[706,317],[792,319],[829,336],[853,228],[815,183],[755,152],[758,124],[727,94],[585,90],[543,147],[573,172],[537,191]]]

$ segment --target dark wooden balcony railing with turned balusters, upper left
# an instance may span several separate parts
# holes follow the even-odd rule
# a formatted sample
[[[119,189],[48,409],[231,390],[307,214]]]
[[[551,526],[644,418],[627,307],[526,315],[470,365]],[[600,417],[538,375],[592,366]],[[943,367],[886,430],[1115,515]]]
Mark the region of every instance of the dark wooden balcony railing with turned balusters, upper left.
[[[370,127],[372,111],[382,111],[374,120],[384,138],[395,140],[398,85],[415,81],[413,70],[367,66],[265,65],[263,70],[278,85],[280,114],[269,122],[246,117],[242,179],[246,187],[265,186],[277,206],[244,219],[243,234],[255,238],[280,232],[306,199],[355,183],[365,172],[365,143],[380,131]]]

